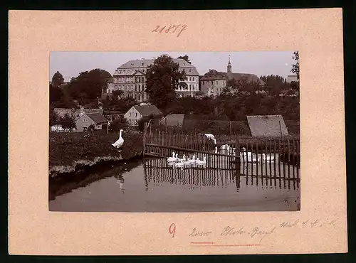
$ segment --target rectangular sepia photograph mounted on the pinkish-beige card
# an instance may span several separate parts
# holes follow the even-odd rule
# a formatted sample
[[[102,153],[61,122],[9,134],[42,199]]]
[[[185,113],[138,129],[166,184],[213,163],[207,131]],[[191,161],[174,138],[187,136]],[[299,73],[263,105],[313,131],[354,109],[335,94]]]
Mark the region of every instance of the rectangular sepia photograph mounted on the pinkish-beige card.
[[[299,53],[51,52],[50,211],[300,210]]]

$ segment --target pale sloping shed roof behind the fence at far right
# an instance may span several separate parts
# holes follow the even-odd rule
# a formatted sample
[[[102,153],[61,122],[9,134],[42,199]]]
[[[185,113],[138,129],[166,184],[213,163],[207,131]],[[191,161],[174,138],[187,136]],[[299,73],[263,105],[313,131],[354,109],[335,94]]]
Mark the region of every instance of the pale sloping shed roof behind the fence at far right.
[[[280,137],[288,135],[282,115],[246,116],[251,135],[256,137]]]

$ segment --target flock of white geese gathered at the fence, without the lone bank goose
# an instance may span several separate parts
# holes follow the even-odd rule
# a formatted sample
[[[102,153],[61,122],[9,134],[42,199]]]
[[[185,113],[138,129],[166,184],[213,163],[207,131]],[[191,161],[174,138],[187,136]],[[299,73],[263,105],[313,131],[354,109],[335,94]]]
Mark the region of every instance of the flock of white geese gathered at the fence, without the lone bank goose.
[[[218,147],[216,146],[216,139],[213,134],[205,134],[205,136],[214,141],[215,144],[215,154],[218,152]],[[224,151],[226,154],[231,154],[235,155],[236,148],[233,148],[230,146],[230,144],[224,144],[220,147],[221,151]],[[174,151],[172,152],[172,156],[167,158],[167,163],[169,166],[173,166],[173,168],[184,168],[184,167],[202,167],[206,168],[206,156],[201,155],[202,160],[199,159],[199,157],[196,158],[196,155],[193,154],[192,156],[186,156],[183,154],[182,158],[179,158],[178,154],[176,154]],[[263,163],[264,161],[266,162],[274,162],[274,156],[273,155],[266,155],[266,154],[261,154],[256,155],[253,154],[252,152],[246,151],[246,148],[242,148],[242,156],[244,158],[244,161],[248,163]]]

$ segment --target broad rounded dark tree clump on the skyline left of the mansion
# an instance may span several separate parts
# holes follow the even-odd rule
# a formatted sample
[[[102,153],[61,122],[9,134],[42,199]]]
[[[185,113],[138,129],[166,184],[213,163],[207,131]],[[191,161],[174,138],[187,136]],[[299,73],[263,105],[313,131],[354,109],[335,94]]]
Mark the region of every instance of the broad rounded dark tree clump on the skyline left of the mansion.
[[[107,85],[107,80],[111,75],[106,70],[96,68],[95,70],[80,73],[68,84],[70,96],[81,103],[95,100],[101,96],[103,88]]]

